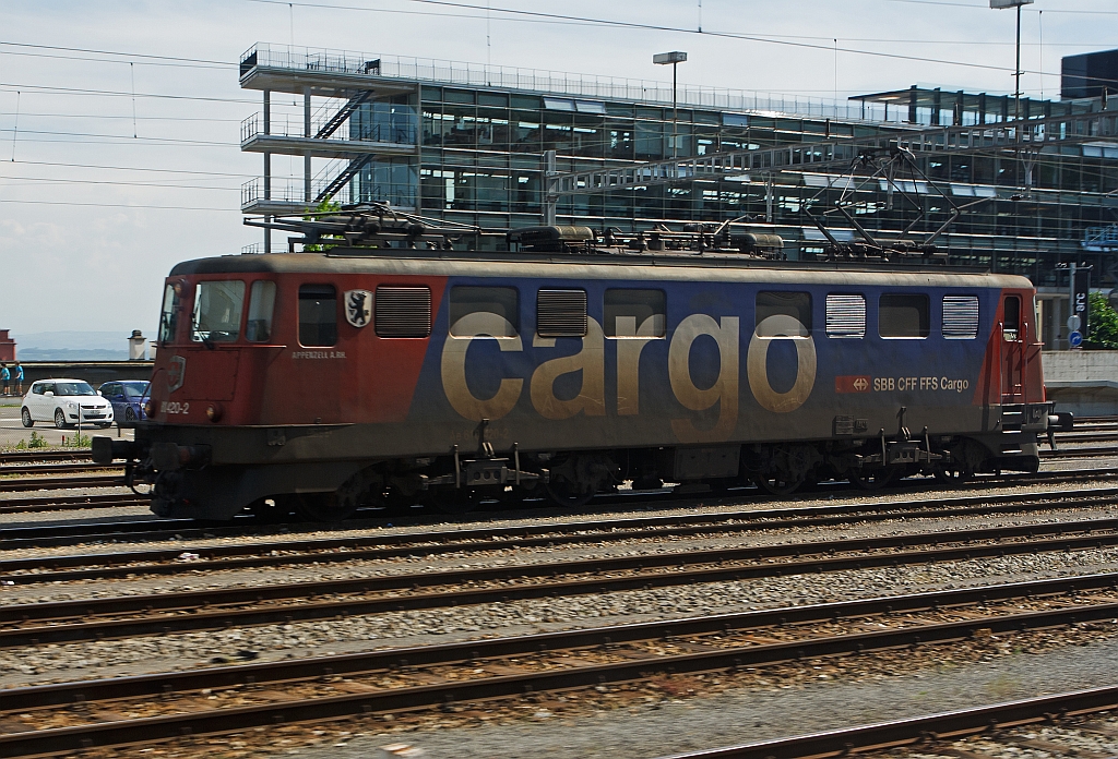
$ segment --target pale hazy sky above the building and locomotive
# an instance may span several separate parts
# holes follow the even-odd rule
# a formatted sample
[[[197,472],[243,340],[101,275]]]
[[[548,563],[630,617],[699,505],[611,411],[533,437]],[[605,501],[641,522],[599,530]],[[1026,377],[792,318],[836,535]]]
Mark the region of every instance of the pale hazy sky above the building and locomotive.
[[[552,15],[548,17],[544,15]],[[563,16],[569,18],[555,18]],[[701,32],[700,32],[701,28]],[[1114,0],[1022,15],[1022,90],[1118,47]],[[1014,11],[987,0],[0,0],[0,329],[154,333],[174,263],[260,240],[239,213],[255,42],[840,99],[1013,90]],[[274,99],[274,113],[284,103]],[[299,158],[273,171],[299,174]],[[80,345],[72,347],[79,348]]]

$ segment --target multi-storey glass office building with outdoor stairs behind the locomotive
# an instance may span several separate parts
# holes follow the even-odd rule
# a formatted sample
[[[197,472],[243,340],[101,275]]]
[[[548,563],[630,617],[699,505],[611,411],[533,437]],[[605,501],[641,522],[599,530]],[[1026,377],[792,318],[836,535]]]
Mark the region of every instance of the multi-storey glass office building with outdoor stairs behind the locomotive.
[[[262,112],[241,128],[243,148],[263,153],[265,169],[245,185],[245,213],[388,201],[486,228],[543,223],[551,173],[951,125],[994,128],[1014,114],[1051,119],[1107,105],[919,87],[836,104],[681,84],[673,111],[672,85],[660,81],[265,44],[243,56],[240,83],[263,90]],[[553,199],[555,218],[624,230],[739,219],[779,233],[795,258],[823,241],[805,212],[822,217],[840,200],[871,233],[889,237],[916,221],[917,239],[947,221],[953,205],[969,204],[938,240],[955,262],[1024,273],[1057,295],[1067,281],[1060,265],[1076,261],[1093,267],[1096,285],[1112,287],[1118,140],[1054,136],[1035,150],[917,152],[919,171],[898,165],[892,181],[864,166],[851,180],[849,166],[787,165],[579,192]],[[284,176],[274,171],[282,156]],[[854,239],[842,217],[826,219],[836,238]]]

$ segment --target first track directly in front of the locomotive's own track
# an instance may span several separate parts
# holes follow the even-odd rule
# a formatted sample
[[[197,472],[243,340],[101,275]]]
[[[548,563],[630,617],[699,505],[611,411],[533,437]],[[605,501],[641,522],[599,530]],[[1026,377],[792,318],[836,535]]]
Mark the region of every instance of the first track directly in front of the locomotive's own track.
[[[1064,500],[1051,500],[1061,496],[1064,497]],[[1067,493],[1031,493],[1023,497],[960,498],[907,503],[885,501],[864,506],[822,506],[705,515],[626,517],[558,525],[454,529],[354,538],[287,539],[235,546],[187,547],[180,545],[158,550],[0,559],[0,576],[6,576],[6,579],[17,584],[42,584],[112,579],[133,575],[177,575],[193,573],[199,568],[207,571],[218,571],[429,556],[447,551],[481,553],[509,547],[533,548],[584,542],[600,545],[652,537],[724,535],[775,528],[827,527],[859,521],[888,521],[906,518],[935,519],[1013,513],[1027,510],[1064,510],[1114,505],[1118,502],[1118,488],[1079,491],[1074,492],[1073,496],[1073,498],[1067,498]],[[955,501],[960,502],[961,506],[953,506]],[[770,521],[771,519],[779,519],[779,522]],[[192,555],[191,558],[195,560],[183,563],[180,560],[183,554]],[[78,567],[82,568],[78,569]]]

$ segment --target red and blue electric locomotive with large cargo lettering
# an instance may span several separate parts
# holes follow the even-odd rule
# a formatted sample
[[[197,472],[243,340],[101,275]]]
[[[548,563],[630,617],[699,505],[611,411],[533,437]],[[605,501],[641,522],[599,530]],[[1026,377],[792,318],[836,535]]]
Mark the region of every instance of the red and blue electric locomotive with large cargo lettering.
[[[498,234],[383,206],[274,225],[303,252],[172,269],[148,419],[93,441],[161,517],[957,481],[1036,471],[1070,424],[1030,281],[934,250],[790,261],[729,223]]]

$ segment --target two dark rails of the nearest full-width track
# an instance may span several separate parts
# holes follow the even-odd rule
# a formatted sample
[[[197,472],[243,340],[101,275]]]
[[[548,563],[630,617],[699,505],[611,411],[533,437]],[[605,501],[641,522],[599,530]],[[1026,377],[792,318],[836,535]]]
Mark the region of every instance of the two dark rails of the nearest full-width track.
[[[1107,587],[1115,577],[1108,576]],[[1045,580],[1048,588],[1082,580],[1088,587],[1097,577]],[[1033,584],[1017,584],[1010,597],[1021,597],[1022,588]],[[1003,586],[1008,588],[1012,586]],[[1078,588],[1073,588],[1078,589]],[[550,654],[557,651],[620,642],[661,638],[712,632],[750,630],[773,624],[787,624],[795,615],[833,619],[842,616],[865,616],[890,612],[935,609],[948,605],[983,603],[984,588],[948,590],[926,594],[922,597],[884,597],[846,604],[823,604],[814,607],[766,609],[735,615],[698,617],[670,622],[645,623],[529,635],[515,638],[468,641],[442,646],[396,648],[368,654],[316,657],[295,662],[265,663],[218,670],[160,673],[85,683],[65,683],[0,691],[0,705],[4,710],[29,710],[63,703],[106,701],[135,698],[160,692],[196,691],[203,688],[233,688],[240,684],[286,682],[322,676],[339,676],[395,667],[417,667],[433,664],[464,663],[476,667],[480,659],[506,657],[521,654]],[[996,593],[996,590],[994,590]],[[961,594],[961,595],[960,595]],[[1026,592],[1027,594],[1027,592]],[[938,601],[934,599],[938,596]],[[968,596],[967,601],[963,601]],[[821,617],[821,612],[828,616]],[[181,736],[237,732],[246,729],[305,721],[344,719],[378,712],[406,712],[446,703],[486,701],[519,696],[540,691],[574,690],[605,683],[623,684],[647,680],[660,672],[694,673],[710,671],[738,671],[785,662],[844,656],[912,645],[958,643],[978,630],[992,633],[1026,632],[1051,628],[1097,619],[1114,618],[1118,603],[1090,606],[1070,606],[1043,612],[972,617],[963,621],[912,625],[870,633],[840,634],[825,637],[800,638],[771,644],[705,648],[693,653],[626,656],[606,664],[576,665],[565,669],[527,672],[522,674],[483,676],[470,680],[389,688],[379,691],[319,696],[296,701],[280,701],[240,707],[211,709],[173,715],[140,718],[134,720],[93,722],[67,728],[28,730],[0,736],[0,752],[6,757],[45,756],[51,753],[111,747],[135,742],[153,742]],[[832,744],[834,746],[834,744]],[[839,746],[842,746],[841,743]],[[733,747],[730,750],[737,750]],[[694,756],[704,756],[702,753]],[[737,755],[726,755],[737,756]],[[750,755],[751,756],[751,755]],[[762,755],[758,755],[762,756]],[[790,755],[804,756],[804,755]]]

